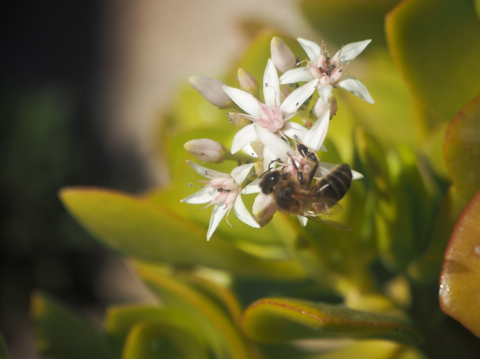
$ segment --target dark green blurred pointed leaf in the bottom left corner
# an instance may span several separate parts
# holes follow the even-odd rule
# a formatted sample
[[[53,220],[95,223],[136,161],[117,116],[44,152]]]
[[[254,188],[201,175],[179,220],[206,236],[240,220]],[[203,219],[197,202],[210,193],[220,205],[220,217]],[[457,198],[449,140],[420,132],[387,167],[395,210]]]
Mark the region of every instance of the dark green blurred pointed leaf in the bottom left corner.
[[[41,293],[31,298],[36,345],[43,358],[113,358],[102,334],[92,324]]]

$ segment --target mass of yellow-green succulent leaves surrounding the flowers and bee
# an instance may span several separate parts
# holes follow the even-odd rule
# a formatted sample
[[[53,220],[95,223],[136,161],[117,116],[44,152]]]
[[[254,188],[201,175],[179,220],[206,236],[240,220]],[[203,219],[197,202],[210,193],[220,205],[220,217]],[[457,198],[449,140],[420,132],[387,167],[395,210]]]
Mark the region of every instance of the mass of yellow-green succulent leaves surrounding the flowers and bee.
[[[301,4],[333,41],[377,41],[348,67],[376,103],[335,89],[338,112],[321,154],[365,176],[333,216],[351,231],[311,221],[302,228],[281,213],[253,229],[232,216],[235,228],[221,223],[207,242],[210,211],[179,202],[198,180],[185,163],[197,160],[182,145],[205,137],[227,144],[237,128],[187,86],[158,135],[170,163],[167,188],[141,197],[60,192],[70,214],[129,257],[160,300],[110,308],[98,338],[108,338],[116,357],[157,358],[163,348],[166,358],[475,358],[480,342],[441,313],[437,283],[452,229],[480,188],[480,97],[467,104],[480,92],[472,66],[480,61],[479,20],[472,1],[396,2],[342,0],[327,14],[326,1]],[[276,35],[261,32],[223,80],[238,87],[238,67],[261,78]],[[233,166],[209,165],[227,173]],[[243,198],[251,208],[254,195]],[[43,336],[55,338],[50,331]],[[312,343],[329,350],[308,354]]]

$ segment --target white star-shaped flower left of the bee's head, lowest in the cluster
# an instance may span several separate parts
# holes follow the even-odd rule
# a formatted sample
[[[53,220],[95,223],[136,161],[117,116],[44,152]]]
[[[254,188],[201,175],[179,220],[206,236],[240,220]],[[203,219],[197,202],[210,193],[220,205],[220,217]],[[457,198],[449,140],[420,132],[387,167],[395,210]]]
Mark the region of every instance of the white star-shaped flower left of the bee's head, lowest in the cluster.
[[[250,213],[248,213],[240,196],[240,186],[254,163],[235,167],[230,174],[228,174],[211,170],[190,161],[186,162],[200,176],[209,179],[208,181],[198,181],[206,183],[205,187],[180,201],[191,204],[208,203],[206,207],[214,205],[210,217],[210,225],[208,226],[208,231],[206,233],[207,240],[210,239],[221,219],[225,214],[228,215],[231,208],[233,208],[233,212],[235,212],[235,215],[240,221],[251,227],[260,228],[258,223],[256,223]]]

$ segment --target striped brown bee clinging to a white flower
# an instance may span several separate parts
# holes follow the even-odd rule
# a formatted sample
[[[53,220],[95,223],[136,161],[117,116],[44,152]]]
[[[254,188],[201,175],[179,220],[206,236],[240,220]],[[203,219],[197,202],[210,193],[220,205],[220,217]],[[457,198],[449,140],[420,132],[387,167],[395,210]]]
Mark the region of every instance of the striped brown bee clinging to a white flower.
[[[343,198],[350,188],[351,170],[346,163],[335,166],[329,173],[312,183],[318,168],[318,157],[298,140],[297,152],[309,164],[311,171],[305,174],[302,167],[292,159],[294,173],[281,169],[268,170],[262,175],[260,189],[264,194],[272,194],[278,209],[291,215],[300,215],[330,227],[344,231],[351,230],[335,221],[319,217],[330,215],[330,208]]]

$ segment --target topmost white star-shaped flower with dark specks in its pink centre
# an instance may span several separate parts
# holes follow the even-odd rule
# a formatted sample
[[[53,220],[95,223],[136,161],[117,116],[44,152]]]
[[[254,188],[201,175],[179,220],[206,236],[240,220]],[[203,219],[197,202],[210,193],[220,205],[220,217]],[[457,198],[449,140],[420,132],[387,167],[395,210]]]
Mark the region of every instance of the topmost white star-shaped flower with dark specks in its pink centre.
[[[358,56],[371,40],[352,42],[342,46],[332,58],[329,57],[323,42],[318,46],[315,42],[303,38],[297,38],[297,41],[310,60],[306,60],[305,67],[286,71],[280,77],[280,84],[318,79],[318,94],[323,102],[328,100],[333,86],[341,87],[368,103],[375,102],[365,85],[353,76],[343,73],[348,63]]]

